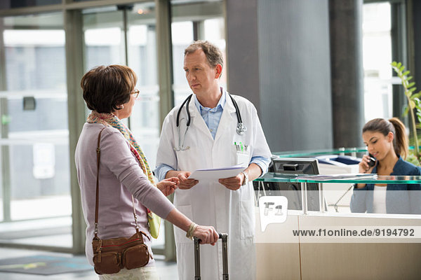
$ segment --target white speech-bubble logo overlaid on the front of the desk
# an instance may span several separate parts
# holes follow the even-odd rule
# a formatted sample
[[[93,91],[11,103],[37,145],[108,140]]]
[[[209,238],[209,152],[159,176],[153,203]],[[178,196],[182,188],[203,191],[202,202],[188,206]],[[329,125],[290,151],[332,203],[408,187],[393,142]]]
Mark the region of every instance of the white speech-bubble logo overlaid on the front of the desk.
[[[288,200],[282,196],[259,198],[260,230],[264,232],[269,223],[283,223],[288,212]]]

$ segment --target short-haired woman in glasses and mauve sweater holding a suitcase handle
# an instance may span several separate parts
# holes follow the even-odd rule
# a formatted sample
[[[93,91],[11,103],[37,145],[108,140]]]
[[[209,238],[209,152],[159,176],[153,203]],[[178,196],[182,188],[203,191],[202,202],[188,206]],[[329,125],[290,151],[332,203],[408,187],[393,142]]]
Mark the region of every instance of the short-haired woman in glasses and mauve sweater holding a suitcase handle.
[[[165,218],[188,237],[198,237],[202,243],[215,244],[218,233],[213,227],[196,225],[180,213],[166,195],[178,188],[178,178],[154,183],[154,176],[145,155],[128,127],[121,120],[131,116],[139,90],[137,77],[127,66],[97,66],[81,80],[83,99],[92,112],[83,125],[76,146],[75,161],[83,216],[86,228],[86,256],[93,265],[92,240],[95,230],[95,195],[97,179],[97,145],[100,137],[99,214],[100,239],[131,237],[135,233],[133,207],[138,216],[140,230],[151,248],[149,225],[156,224],[152,212]],[[134,197],[134,205],[132,200]],[[150,209],[150,211],[149,211]],[[152,212],[151,212],[152,211]],[[149,221],[148,221],[149,216]],[[155,220],[154,220],[155,219]],[[148,223],[149,222],[149,223]],[[157,232],[152,232],[156,235]],[[156,236],[155,236],[156,237]],[[152,252],[150,252],[152,255]],[[153,258],[148,265],[135,269],[121,269],[115,274],[101,274],[100,279],[159,279]]]

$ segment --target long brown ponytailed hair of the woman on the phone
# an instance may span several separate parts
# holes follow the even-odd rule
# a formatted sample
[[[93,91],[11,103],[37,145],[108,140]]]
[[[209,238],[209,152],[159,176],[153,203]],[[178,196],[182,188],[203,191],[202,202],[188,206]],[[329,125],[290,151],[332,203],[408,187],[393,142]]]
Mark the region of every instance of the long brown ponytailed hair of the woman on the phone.
[[[394,134],[393,147],[396,155],[401,155],[403,159],[406,159],[408,156],[408,137],[406,136],[406,128],[399,118],[391,118],[389,120],[375,118],[364,125],[363,133],[366,131],[380,132],[385,136],[387,136],[389,132],[392,132]]]

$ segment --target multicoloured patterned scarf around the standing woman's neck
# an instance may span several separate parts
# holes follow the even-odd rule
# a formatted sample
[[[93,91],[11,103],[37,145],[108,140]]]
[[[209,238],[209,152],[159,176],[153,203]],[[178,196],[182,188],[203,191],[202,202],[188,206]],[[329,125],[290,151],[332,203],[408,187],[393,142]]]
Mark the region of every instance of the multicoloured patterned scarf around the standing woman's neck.
[[[142,152],[142,149],[140,148],[138,142],[136,142],[131,131],[128,129],[128,127],[126,127],[126,125],[124,125],[124,123],[121,120],[119,120],[119,118],[117,118],[112,113],[98,113],[96,111],[92,111],[92,113],[89,114],[86,122],[100,123],[107,127],[114,127],[117,130],[119,130],[119,132],[123,134],[124,138],[126,138],[128,143],[130,144],[131,152],[139,160],[140,167],[142,167],[143,173],[147,175],[147,179],[149,179],[149,182],[152,183],[152,185],[156,186],[154,181],[154,175],[152,174],[152,171],[149,168],[145,154]],[[161,223],[161,218],[159,218],[159,216],[156,216],[156,214],[152,213],[152,211],[150,211],[149,209],[147,209],[147,216],[149,221],[149,231],[152,237],[157,238],[159,234],[159,225]]]

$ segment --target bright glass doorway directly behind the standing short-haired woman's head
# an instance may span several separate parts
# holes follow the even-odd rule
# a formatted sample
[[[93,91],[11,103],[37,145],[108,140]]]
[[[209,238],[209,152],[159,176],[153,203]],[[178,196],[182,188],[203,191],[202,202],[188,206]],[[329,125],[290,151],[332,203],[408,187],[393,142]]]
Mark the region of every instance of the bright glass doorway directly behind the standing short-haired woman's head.
[[[124,64],[138,75],[136,87],[140,95],[131,117],[125,121],[152,169],[160,134],[154,7],[154,2],[146,2],[82,12],[86,71],[98,65]],[[163,248],[163,244],[161,230],[159,239],[153,242],[154,252],[159,253],[157,249]]]

